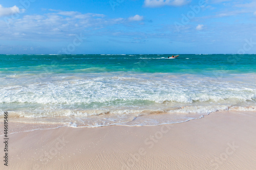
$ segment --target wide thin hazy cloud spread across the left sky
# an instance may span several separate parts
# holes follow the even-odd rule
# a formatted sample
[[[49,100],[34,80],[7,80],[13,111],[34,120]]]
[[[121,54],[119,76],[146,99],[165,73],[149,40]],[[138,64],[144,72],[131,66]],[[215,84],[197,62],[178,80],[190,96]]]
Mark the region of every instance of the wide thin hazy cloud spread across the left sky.
[[[88,33],[98,35],[98,30],[129,22],[124,18],[108,18],[103,14],[50,10],[42,15],[24,15],[18,19],[0,20],[0,39],[62,39],[63,35]],[[79,15],[79,17],[78,17]],[[140,17],[135,17],[138,20]],[[7,25],[7,24],[8,25]],[[15,33],[15,34],[14,34]],[[19,34],[17,34],[19,33]],[[4,35],[4,36],[3,36]]]

